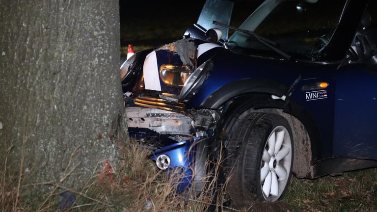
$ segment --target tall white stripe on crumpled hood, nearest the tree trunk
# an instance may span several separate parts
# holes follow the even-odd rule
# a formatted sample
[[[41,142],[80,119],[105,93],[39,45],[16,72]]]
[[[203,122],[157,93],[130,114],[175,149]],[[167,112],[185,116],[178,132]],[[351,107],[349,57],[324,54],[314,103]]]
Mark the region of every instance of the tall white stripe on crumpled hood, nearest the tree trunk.
[[[149,53],[143,65],[144,84],[147,90],[161,91],[159,67],[157,65],[156,52]]]

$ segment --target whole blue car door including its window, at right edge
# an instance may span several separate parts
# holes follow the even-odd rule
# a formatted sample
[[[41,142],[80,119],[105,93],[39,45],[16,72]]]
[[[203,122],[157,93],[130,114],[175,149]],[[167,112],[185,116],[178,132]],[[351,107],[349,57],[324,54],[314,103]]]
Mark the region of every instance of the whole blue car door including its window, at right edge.
[[[351,44],[357,60],[335,77],[335,157],[377,159],[377,64],[370,58],[377,53],[376,11],[377,2],[370,1]]]

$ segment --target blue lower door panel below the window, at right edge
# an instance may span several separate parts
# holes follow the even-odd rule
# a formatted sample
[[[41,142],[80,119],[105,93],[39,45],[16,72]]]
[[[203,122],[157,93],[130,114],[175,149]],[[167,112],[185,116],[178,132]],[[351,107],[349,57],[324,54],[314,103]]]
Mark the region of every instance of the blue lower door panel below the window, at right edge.
[[[377,159],[377,66],[340,68],[335,86],[334,157]]]

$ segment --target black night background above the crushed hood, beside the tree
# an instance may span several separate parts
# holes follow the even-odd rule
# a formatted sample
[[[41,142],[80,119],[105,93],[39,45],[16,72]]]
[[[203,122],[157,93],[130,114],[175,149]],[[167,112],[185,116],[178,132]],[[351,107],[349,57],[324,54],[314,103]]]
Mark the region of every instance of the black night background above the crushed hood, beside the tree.
[[[239,26],[262,0],[236,0],[231,25]],[[205,0],[120,0],[121,46],[160,46],[182,38]]]

